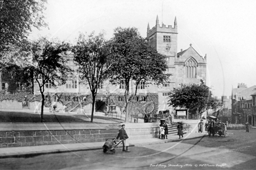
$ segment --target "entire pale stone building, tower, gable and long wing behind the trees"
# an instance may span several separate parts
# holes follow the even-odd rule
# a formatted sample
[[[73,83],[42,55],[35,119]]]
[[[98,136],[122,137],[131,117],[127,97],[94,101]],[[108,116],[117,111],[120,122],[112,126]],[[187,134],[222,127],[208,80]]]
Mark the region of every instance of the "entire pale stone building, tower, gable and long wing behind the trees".
[[[177,30],[177,19],[175,17],[174,26],[166,26],[165,24],[159,24],[159,19],[157,16],[156,24],[154,27],[150,29],[148,24],[147,27],[147,38],[150,42],[151,46],[155,48],[159,53],[166,56],[166,62],[168,64],[167,72],[172,74],[169,78],[169,83],[162,85],[161,87],[157,87],[155,85],[146,86],[145,82],[141,82],[140,87],[138,88],[137,94],[138,99],[137,102],[140,102],[140,106],[146,106],[146,104],[150,103],[150,97],[147,94],[153,93],[158,95],[158,108],[157,111],[162,110],[170,110],[170,113],[173,113],[172,108],[168,106],[168,92],[172,91],[173,88],[179,88],[180,84],[190,84],[195,83],[199,84],[200,81],[206,82],[207,79],[207,58],[202,57],[198,54],[198,52],[193,48],[190,44],[189,48],[186,50],[181,50],[177,52],[177,38],[178,30]],[[76,66],[73,62],[73,57],[70,56],[69,66],[76,70]],[[109,111],[111,105],[116,105],[116,103],[120,102],[125,92],[125,86],[120,85],[112,85],[108,81],[105,81],[101,86],[99,86],[98,94],[99,99],[97,99],[96,103],[96,111]],[[135,92],[134,82],[130,82],[130,92]],[[73,102],[77,102],[77,98],[75,96],[81,95],[90,95],[90,89],[87,86],[81,85],[79,83],[78,75],[74,77],[70,77],[65,85],[59,86],[58,88],[53,88],[51,83],[45,85],[45,94],[59,94],[66,93],[72,94]],[[34,85],[34,94],[40,94],[38,85]],[[104,96],[108,96],[109,94],[118,95],[116,100],[110,99],[106,101]],[[152,98],[152,97],[151,97]],[[120,101],[119,101],[120,100]],[[63,103],[58,103],[58,95],[52,95],[51,101],[57,102],[58,108],[63,108]],[[86,97],[83,97],[83,101],[86,101]],[[111,103],[112,102],[112,103]],[[109,107],[106,107],[109,106]],[[73,106],[72,106],[73,107]],[[90,113],[91,106],[88,104],[84,106],[84,110],[86,113]],[[33,107],[30,107],[33,108]],[[106,108],[106,109],[105,109]],[[73,108],[72,108],[73,109]],[[73,111],[73,110],[70,110]],[[116,108],[116,111],[122,113],[121,109]]]

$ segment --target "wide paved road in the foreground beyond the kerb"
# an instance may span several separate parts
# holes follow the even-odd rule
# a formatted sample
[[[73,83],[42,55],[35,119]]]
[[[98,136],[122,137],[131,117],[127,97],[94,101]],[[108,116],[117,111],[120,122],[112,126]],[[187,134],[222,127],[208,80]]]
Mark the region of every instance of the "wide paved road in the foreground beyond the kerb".
[[[255,132],[141,145],[130,147],[130,153],[118,148],[115,154],[90,150],[5,158],[0,169],[255,169]]]

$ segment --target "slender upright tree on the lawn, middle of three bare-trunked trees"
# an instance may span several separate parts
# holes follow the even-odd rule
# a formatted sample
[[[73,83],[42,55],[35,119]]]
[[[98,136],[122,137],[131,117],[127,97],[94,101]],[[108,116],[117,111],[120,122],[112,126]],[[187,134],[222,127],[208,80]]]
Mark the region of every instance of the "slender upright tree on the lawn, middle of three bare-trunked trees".
[[[93,96],[91,122],[93,122],[95,99],[98,87],[106,79],[106,61],[109,56],[109,46],[106,44],[103,34],[94,35],[94,32],[86,38],[80,34],[77,44],[73,47],[74,61],[77,63],[77,72],[81,81],[88,84]]]

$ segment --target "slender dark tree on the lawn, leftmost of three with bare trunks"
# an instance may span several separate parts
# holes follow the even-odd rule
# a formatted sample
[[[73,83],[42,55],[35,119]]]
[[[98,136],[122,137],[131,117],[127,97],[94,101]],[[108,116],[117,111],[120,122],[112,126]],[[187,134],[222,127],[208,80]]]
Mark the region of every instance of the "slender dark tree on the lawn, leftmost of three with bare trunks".
[[[72,73],[66,64],[69,60],[67,56],[69,49],[69,44],[48,41],[47,38],[40,38],[31,45],[33,65],[30,68],[42,96],[41,121],[44,121],[45,84],[51,83],[55,87],[63,85],[68,75]]]

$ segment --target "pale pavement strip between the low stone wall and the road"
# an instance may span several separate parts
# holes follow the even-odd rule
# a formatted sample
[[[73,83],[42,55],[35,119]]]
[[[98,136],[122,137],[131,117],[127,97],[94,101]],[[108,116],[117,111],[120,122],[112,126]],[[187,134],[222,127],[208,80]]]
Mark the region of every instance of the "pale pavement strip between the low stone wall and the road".
[[[183,140],[202,138],[207,136],[208,133],[186,133],[183,138],[179,139],[177,135],[169,135],[168,139],[147,138],[135,139],[129,141],[130,147],[144,146],[147,144],[159,144],[168,142],[182,142]],[[27,146],[27,147],[6,147],[0,148],[0,158],[11,157],[31,157],[42,154],[65,153],[74,151],[87,151],[87,150],[101,150],[105,142],[92,142],[92,143],[68,143],[68,144],[52,144],[42,146]],[[118,147],[122,147],[119,144]],[[132,151],[132,149],[131,149]]]

